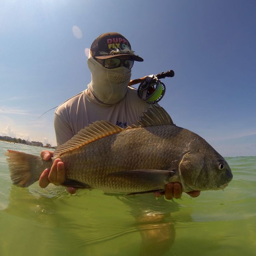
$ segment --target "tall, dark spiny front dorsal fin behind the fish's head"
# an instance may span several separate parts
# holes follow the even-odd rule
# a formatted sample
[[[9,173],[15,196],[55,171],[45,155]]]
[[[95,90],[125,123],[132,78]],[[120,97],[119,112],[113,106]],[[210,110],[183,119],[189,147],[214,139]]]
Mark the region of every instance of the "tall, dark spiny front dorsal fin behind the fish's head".
[[[164,108],[151,106],[152,108],[148,108],[148,111],[143,113],[143,117],[140,117],[140,121],[138,121],[140,126],[174,125],[172,118]]]

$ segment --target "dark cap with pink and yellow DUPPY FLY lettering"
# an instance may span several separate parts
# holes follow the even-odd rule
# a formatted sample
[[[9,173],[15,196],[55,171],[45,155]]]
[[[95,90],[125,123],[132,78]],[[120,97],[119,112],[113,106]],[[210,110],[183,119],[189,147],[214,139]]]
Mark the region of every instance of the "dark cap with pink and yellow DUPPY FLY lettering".
[[[96,59],[129,56],[133,60],[143,61],[143,58],[134,54],[129,41],[117,32],[101,34],[93,41],[90,50],[92,57]]]

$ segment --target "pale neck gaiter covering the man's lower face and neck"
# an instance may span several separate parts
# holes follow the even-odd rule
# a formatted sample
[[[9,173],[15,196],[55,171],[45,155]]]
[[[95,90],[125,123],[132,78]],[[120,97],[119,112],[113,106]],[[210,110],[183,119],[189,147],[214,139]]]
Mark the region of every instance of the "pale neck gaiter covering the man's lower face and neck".
[[[87,60],[92,73],[89,89],[92,94],[105,104],[116,104],[124,98],[131,79],[131,70],[125,67],[104,68],[91,55]]]

